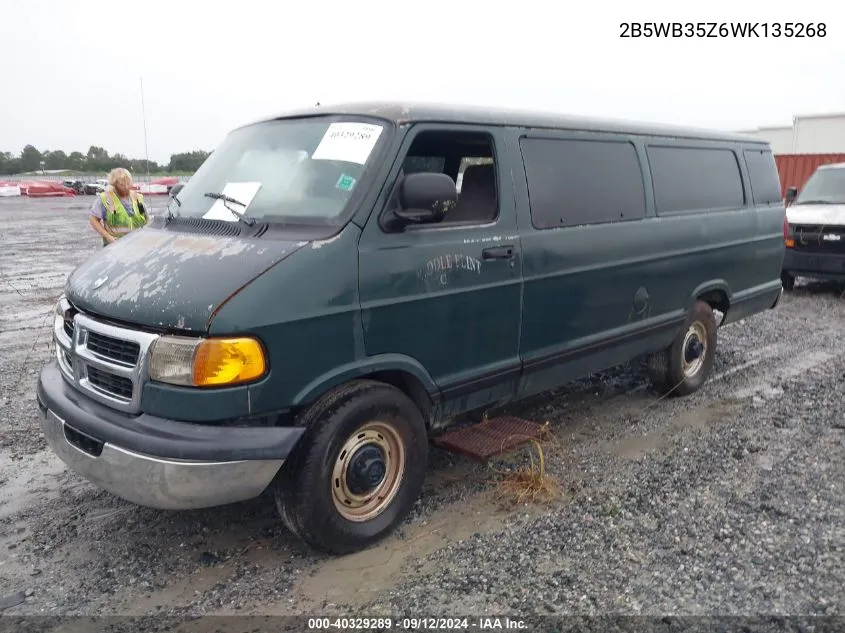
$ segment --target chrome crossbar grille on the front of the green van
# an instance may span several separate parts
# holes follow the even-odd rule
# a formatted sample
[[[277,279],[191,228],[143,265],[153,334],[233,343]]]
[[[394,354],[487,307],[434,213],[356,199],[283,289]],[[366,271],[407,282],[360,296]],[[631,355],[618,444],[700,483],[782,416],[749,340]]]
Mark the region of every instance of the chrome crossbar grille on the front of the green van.
[[[92,319],[62,299],[53,338],[59,367],[76,389],[120,411],[140,411],[147,354],[158,335]]]

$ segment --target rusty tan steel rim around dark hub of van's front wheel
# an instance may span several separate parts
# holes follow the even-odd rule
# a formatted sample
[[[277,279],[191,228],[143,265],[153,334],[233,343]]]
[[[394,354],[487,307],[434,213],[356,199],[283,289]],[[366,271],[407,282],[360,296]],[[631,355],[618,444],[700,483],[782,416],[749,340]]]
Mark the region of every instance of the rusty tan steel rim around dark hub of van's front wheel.
[[[350,486],[350,466],[361,449],[376,447],[383,455],[384,477],[372,489],[356,493]],[[396,430],[384,422],[369,422],[350,435],[332,469],[332,501],[340,515],[355,522],[369,521],[384,512],[396,497],[405,475],[405,445]]]

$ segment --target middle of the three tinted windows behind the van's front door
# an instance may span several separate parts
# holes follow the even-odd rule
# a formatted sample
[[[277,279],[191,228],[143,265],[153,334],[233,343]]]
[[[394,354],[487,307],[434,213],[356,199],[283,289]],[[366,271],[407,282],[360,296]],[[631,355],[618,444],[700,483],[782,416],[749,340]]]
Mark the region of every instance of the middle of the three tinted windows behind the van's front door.
[[[745,205],[742,175],[733,151],[659,146],[647,151],[658,215]]]

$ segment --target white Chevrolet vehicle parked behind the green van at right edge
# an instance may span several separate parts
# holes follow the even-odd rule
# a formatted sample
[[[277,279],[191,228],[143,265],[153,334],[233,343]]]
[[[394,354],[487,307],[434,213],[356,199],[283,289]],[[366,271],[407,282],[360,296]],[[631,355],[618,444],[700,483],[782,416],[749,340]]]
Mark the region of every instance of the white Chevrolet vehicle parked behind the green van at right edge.
[[[845,163],[817,168],[800,194],[787,190],[787,203],[784,288],[796,277],[845,280]]]

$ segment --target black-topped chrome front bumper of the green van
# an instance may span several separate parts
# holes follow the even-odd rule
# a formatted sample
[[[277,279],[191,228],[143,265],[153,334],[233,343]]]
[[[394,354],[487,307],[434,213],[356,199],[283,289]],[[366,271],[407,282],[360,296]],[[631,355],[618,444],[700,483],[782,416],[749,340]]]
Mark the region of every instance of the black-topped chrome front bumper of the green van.
[[[121,414],[70,387],[56,361],[41,371],[38,406],[47,442],[68,467],[127,501],[166,510],[259,496],[305,432]]]

